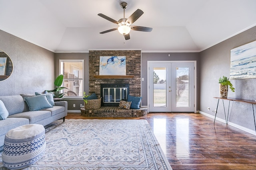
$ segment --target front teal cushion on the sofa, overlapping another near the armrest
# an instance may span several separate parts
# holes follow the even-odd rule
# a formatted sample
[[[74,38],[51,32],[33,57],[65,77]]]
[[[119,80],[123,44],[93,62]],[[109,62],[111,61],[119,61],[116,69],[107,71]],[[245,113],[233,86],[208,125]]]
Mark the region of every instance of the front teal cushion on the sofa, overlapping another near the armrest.
[[[24,100],[28,104],[29,111],[36,111],[44,108],[53,107],[47,100],[46,95],[27,97],[24,98]]]

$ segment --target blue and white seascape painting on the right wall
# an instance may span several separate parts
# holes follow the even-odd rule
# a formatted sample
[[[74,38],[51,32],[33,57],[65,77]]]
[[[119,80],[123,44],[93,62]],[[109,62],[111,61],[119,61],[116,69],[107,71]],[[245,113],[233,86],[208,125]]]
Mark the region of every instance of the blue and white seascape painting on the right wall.
[[[256,41],[230,50],[230,79],[256,78]]]

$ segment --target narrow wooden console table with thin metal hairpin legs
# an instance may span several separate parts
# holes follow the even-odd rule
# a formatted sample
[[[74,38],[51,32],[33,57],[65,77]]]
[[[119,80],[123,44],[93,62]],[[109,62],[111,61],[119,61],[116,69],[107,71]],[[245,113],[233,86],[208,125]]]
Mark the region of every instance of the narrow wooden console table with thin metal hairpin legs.
[[[256,131],[256,123],[255,123],[254,108],[253,108],[253,105],[256,104],[255,101],[253,101],[253,100],[236,99],[236,98],[218,98],[218,97],[214,97],[214,98],[218,99],[217,108],[216,108],[216,113],[215,113],[215,118],[214,118],[214,123],[215,123],[216,114],[217,114],[217,110],[218,110],[218,105],[219,105],[220,99],[222,99],[222,103],[223,103],[223,108],[224,108],[224,113],[225,113],[226,124],[228,124],[228,116],[226,117],[226,111],[225,111],[225,106],[224,106],[224,100],[228,100],[228,113],[229,113],[230,101],[244,102],[244,103],[252,104],[252,112],[253,112],[253,118],[254,118],[254,126],[255,126],[255,131]]]

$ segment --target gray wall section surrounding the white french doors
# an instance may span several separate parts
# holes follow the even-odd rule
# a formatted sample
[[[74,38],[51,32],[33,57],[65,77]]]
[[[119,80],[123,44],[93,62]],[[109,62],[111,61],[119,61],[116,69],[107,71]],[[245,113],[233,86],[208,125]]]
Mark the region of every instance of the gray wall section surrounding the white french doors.
[[[170,54],[170,57],[168,57],[168,54]],[[141,96],[142,98],[142,106],[147,106],[147,64],[148,61],[196,61],[197,64],[197,91],[199,92],[199,66],[200,66],[200,60],[199,60],[199,53],[142,53],[142,59],[141,59],[141,77],[144,78],[144,81],[141,83]],[[199,96],[197,94],[197,96]],[[197,103],[199,104],[199,100],[197,99]],[[199,108],[199,106],[197,106]],[[197,108],[197,109],[198,109]]]

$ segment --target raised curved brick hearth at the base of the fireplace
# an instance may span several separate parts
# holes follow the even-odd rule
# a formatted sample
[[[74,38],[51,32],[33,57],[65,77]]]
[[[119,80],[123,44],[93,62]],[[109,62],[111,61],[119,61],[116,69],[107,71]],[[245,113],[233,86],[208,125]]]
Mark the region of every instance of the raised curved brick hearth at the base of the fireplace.
[[[148,107],[140,109],[121,109],[113,106],[100,107],[99,109],[86,110],[81,108],[81,115],[86,117],[141,117],[148,114]]]

